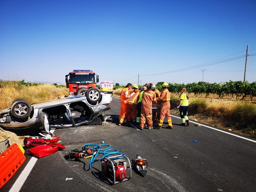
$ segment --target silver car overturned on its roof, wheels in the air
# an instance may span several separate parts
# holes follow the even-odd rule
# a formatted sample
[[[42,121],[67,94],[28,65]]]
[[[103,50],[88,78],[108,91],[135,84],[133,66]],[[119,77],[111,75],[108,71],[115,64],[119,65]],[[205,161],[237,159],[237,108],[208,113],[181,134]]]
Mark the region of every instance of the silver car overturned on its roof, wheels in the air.
[[[0,112],[0,127],[24,129],[44,127],[76,127],[82,124],[101,124],[105,111],[110,109],[111,94],[91,88],[85,95],[71,96],[42,103],[30,103],[24,98],[13,101],[11,108]]]

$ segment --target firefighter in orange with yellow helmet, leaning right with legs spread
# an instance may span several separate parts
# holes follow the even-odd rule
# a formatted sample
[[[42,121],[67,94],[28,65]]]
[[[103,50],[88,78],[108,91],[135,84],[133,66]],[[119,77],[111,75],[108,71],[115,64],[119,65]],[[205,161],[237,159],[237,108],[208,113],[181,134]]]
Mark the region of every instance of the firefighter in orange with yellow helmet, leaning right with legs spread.
[[[122,114],[122,117],[119,120],[119,126],[122,125],[122,123],[126,118],[128,118],[128,116],[131,116],[132,122],[136,122],[137,102],[139,101],[140,90],[138,90],[138,85],[136,84],[134,84],[132,87],[134,89],[134,92],[132,94],[132,97],[127,101],[126,111],[124,112],[124,114]]]

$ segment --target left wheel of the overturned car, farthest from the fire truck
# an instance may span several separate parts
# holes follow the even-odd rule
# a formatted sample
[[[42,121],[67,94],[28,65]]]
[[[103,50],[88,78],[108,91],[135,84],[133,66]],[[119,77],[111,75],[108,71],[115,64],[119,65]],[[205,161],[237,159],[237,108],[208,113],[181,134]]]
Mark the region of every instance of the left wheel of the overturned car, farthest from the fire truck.
[[[15,118],[17,122],[24,122],[32,111],[30,103],[23,99],[18,98],[11,105],[11,115]]]

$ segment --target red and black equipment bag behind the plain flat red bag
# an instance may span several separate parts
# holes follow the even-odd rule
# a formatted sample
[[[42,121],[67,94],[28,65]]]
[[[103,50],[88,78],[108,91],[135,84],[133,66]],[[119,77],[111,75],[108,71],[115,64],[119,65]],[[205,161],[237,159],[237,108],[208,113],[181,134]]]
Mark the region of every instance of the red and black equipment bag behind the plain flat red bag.
[[[46,139],[43,137],[25,137],[23,140],[24,146],[26,147],[35,147],[39,145],[43,145],[45,142],[57,142],[59,141],[59,137],[54,136],[50,139]]]

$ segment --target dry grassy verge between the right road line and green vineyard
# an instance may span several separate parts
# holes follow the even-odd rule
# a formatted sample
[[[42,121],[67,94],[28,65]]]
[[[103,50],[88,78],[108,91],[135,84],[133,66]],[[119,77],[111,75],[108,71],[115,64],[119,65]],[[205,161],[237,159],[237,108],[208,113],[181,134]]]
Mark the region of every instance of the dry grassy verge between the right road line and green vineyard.
[[[172,98],[175,102],[171,101],[174,104],[171,104],[171,108],[174,109],[178,95],[173,94]],[[255,98],[252,101],[241,101],[228,96],[223,99],[216,95],[210,95],[208,98],[192,96],[189,98],[189,116],[213,126],[256,137],[255,103]],[[179,114],[177,110],[172,113]]]

